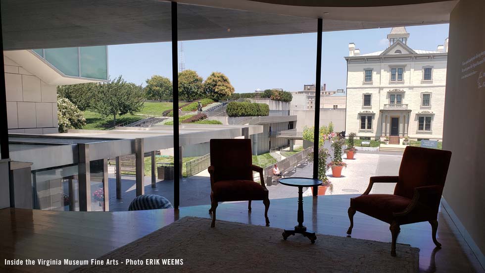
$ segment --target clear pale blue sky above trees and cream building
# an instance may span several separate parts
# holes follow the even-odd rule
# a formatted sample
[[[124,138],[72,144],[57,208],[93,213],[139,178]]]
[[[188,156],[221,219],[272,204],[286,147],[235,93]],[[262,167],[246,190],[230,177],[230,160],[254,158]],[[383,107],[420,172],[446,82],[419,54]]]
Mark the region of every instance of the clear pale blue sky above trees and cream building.
[[[448,37],[448,24],[406,27],[413,49],[436,50]],[[390,28],[323,33],[322,84],[327,90],[344,89],[348,43],[361,54],[388,46]],[[298,91],[315,82],[316,33],[185,41],[185,67],[204,79],[212,72],[226,74],[237,93],[257,88]],[[180,43],[179,43],[180,49]],[[171,43],[108,47],[111,78],[123,77],[145,85],[153,74],[172,78]]]

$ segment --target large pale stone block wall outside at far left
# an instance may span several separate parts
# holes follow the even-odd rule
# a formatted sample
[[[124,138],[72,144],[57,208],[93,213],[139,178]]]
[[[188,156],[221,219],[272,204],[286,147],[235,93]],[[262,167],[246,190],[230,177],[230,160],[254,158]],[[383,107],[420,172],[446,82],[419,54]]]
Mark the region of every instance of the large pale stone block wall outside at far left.
[[[9,133],[51,134],[57,129],[57,90],[4,57]]]

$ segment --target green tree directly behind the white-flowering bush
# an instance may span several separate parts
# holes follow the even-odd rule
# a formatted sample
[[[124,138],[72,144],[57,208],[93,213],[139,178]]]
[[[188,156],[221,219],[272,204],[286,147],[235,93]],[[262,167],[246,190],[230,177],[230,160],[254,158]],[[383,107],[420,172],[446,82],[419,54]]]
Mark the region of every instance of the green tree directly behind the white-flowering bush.
[[[91,107],[93,92],[96,88],[96,83],[60,85],[57,86],[57,94],[62,98],[68,99],[81,111],[85,111]]]

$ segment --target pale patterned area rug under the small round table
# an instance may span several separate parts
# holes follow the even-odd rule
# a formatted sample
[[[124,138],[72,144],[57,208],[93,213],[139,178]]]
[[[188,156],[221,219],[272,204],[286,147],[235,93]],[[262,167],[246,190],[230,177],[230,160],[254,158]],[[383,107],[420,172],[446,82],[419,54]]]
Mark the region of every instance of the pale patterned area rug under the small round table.
[[[221,220],[211,228],[210,221],[184,217],[98,258],[118,265],[87,265],[72,273],[419,272],[419,249],[409,245],[398,245],[391,257],[390,243],[322,234],[315,244],[300,234],[284,241],[280,228]],[[127,265],[126,259],[143,265]],[[145,259],[160,259],[160,265]]]

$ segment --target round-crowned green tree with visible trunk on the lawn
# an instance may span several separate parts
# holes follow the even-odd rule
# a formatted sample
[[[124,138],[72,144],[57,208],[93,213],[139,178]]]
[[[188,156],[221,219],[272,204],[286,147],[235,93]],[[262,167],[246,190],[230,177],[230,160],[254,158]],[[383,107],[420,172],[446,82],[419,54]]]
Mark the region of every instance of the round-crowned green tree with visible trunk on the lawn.
[[[127,83],[121,76],[106,83],[98,84],[94,92],[92,109],[102,116],[116,116],[140,111],[143,106],[143,88]]]

